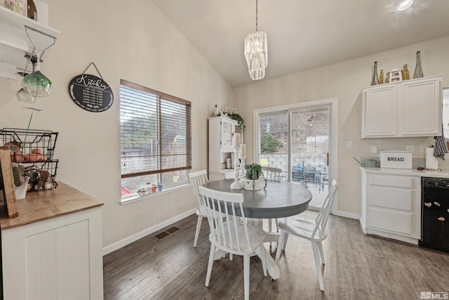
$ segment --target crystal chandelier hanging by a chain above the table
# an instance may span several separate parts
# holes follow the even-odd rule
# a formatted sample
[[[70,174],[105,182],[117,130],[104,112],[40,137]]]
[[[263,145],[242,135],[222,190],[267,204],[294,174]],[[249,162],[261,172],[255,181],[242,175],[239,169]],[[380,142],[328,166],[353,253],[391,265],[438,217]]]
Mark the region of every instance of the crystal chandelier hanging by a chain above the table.
[[[257,31],[257,0],[255,1],[255,32],[248,34],[245,38],[245,58],[251,79],[264,78],[265,68],[268,65],[267,34]]]

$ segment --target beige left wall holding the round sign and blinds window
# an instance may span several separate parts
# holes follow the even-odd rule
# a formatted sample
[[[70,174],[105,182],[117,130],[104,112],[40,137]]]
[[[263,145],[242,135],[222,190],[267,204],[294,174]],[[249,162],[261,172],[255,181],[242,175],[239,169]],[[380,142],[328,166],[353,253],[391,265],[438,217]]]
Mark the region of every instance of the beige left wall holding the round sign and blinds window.
[[[119,84],[126,79],[192,102],[193,170],[207,168],[207,117],[232,107],[232,88],[152,1],[48,0],[50,25],[61,37],[41,72],[54,84],[39,98],[32,129],[58,131],[57,181],[105,202],[103,246],[119,242],[194,209],[190,188],[122,206],[120,201]],[[105,112],[87,112],[69,97],[68,84],[94,62],[114,91]],[[25,58],[24,58],[25,65]],[[88,74],[100,76],[92,66]],[[26,128],[30,106],[15,93],[20,81],[0,79],[0,127]]]

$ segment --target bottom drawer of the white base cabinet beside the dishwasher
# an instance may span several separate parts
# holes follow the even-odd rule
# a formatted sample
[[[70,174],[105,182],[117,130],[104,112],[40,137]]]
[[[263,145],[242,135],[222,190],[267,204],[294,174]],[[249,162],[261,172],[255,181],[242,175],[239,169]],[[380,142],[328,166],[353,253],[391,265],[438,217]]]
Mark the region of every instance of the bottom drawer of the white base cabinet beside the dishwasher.
[[[370,207],[368,209],[368,223],[371,228],[389,230],[404,235],[412,234],[412,217],[407,212],[388,211]]]

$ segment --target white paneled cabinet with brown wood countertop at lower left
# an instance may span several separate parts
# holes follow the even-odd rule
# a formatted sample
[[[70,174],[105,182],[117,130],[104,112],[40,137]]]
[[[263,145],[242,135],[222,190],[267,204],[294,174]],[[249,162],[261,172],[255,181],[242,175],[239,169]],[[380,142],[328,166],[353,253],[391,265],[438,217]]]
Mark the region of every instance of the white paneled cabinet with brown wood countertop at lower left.
[[[65,183],[1,216],[5,300],[103,299],[102,203]]]

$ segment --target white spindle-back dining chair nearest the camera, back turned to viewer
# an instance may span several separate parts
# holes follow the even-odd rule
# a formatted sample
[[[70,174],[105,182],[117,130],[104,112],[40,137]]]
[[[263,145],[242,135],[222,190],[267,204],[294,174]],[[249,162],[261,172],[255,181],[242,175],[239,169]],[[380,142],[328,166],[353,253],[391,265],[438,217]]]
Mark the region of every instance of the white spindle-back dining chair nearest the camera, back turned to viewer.
[[[240,193],[220,192],[203,186],[199,187],[203,206],[210,227],[210,254],[206,273],[206,287],[209,286],[213,261],[223,252],[243,256],[243,285],[245,299],[250,294],[250,256],[257,254],[262,261],[264,275],[267,276],[267,258],[263,248],[264,230],[246,223],[243,211],[243,195]],[[241,216],[237,216],[240,214]],[[220,218],[224,216],[224,218]]]

